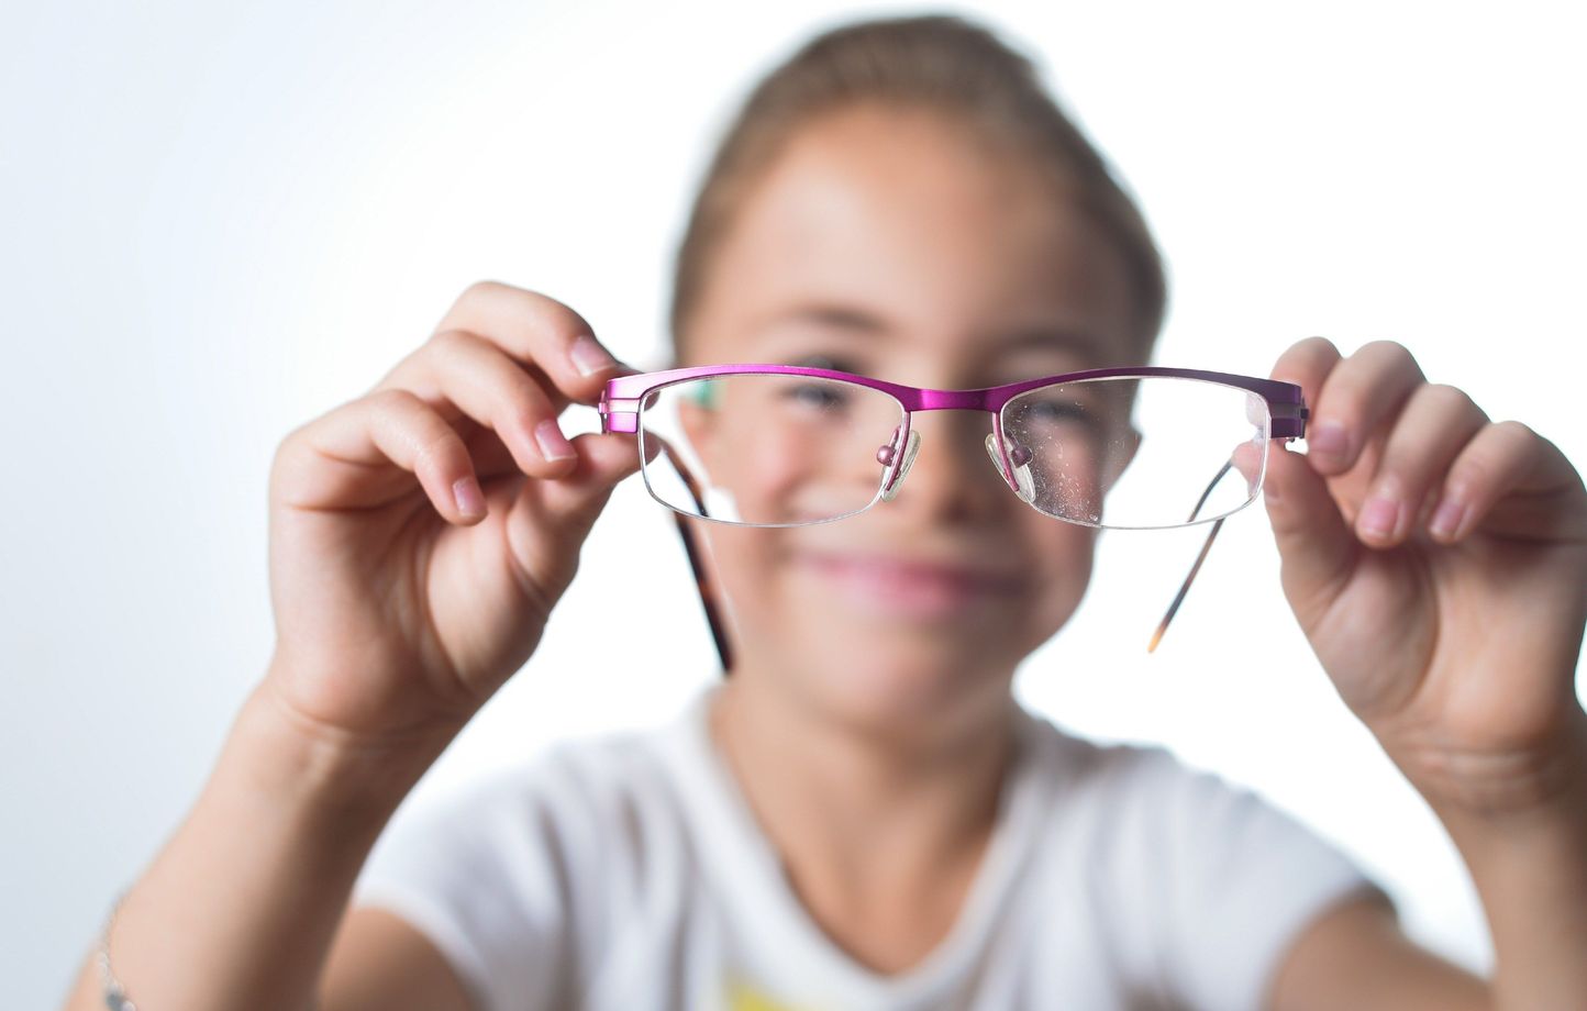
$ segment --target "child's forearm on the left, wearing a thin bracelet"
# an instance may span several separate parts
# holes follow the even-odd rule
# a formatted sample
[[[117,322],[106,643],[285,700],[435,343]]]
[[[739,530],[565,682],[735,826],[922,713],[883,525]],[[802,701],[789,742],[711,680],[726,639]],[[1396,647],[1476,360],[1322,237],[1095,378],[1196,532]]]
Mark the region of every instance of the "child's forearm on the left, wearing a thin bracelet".
[[[111,967],[149,1011],[306,1009],[352,884],[444,749],[352,754],[298,733],[259,690],[187,819],[132,886]],[[67,1011],[102,1011],[84,967]]]

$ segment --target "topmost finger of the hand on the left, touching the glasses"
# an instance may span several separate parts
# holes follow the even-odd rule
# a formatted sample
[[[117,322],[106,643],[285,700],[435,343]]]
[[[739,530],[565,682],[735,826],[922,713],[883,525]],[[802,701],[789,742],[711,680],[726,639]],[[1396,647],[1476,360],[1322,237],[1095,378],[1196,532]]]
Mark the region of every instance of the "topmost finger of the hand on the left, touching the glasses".
[[[622,370],[582,316],[555,298],[500,281],[470,284],[436,330],[478,333],[540,368],[557,413],[570,400],[597,403],[606,379]]]

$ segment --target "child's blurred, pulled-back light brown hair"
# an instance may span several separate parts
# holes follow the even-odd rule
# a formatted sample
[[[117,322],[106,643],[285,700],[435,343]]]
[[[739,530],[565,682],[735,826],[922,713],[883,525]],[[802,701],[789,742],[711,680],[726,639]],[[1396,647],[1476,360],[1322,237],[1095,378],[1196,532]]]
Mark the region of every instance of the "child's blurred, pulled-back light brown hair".
[[[1032,60],[954,16],[833,29],[808,41],[751,92],[706,170],[678,249],[671,332],[679,359],[713,252],[747,187],[800,127],[862,102],[955,114],[1052,167],[1071,198],[1124,254],[1135,287],[1135,351],[1146,362],[1162,329],[1168,284],[1139,208],[1059,108]]]

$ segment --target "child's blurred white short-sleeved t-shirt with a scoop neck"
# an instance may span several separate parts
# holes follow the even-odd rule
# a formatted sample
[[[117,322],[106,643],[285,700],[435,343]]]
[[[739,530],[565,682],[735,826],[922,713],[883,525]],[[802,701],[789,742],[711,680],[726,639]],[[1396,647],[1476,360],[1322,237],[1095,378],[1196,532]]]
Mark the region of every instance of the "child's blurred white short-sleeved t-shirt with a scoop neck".
[[[1022,709],[959,919],[884,976],[795,897],[708,733],[717,687],[405,805],[352,905],[428,936],[476,1011],[1255,1011],[1298,932],[1376,887],[1252,792]]]

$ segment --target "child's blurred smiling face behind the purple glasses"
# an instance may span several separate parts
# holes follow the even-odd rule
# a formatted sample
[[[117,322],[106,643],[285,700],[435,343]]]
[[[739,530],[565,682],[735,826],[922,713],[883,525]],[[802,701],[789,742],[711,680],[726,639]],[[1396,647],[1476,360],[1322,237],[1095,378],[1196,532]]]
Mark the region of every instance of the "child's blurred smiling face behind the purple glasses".
[[[854,108],[805,127],[735,210],[684,363],[819,357],[940,389],[1141,363],[1130,294],[1114,243],[1028,160],[941,114]],[[1097,532],[1014,497],[982,446],[989,414],[913,424],[893,502],[697,530],[740,670],[851,722],[924,730],[1006,703],[1014,667],[1079,603]]]

